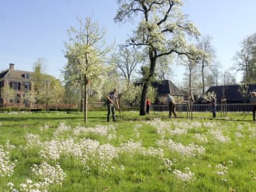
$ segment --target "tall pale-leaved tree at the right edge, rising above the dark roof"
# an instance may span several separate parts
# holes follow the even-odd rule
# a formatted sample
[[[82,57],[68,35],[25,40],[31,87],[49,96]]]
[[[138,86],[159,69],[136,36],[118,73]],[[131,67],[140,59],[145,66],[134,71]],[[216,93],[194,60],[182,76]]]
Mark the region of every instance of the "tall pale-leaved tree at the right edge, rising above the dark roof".
[[[234,68],[242,72],[242,82],[254,84],[256,82],[256,33],[243,40],[241,50],[237,52],[234,60],[237,62]]]

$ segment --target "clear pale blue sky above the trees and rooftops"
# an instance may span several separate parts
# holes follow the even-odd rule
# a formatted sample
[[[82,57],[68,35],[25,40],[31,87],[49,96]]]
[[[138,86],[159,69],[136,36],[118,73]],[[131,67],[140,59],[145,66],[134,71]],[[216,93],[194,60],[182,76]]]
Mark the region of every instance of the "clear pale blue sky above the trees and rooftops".
[[[256,32],[255,0],[185,0],[184,12],[203,36],[212,36],[223,70],[234,63],[241,41]],[[92,17],[106,29],[106,41],[123,43],[130,25],[113,22],[116,0],[1,0],[0,71],[15,63],[17,70],[33,70],[40,57],[46,73],[59,78],[67,63],[64,42],[67,29],[78,27],[78,18]],[[174,73],[182,73],[177,67]],[[179,77],[182,74],[179,74]]]

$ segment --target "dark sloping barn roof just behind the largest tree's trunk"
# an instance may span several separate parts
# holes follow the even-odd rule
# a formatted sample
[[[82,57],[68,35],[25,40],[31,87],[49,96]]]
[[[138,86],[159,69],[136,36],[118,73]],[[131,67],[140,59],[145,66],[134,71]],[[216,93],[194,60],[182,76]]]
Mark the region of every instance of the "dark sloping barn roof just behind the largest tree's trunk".
[[[135,83],[136,86],[141,86],[142,83]],[[154,81],[151,83],[152,87],[157,88],[157,94],[172,94],[175,96],[184,96],[185,94],[178,89],[170,80]]]

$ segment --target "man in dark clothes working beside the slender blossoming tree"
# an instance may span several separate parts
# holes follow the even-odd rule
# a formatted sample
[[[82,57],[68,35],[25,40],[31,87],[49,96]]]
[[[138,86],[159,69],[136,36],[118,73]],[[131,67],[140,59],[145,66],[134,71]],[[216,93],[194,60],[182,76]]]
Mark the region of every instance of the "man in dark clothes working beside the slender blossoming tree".
[[[107,105],[108,105],[107,121],[109,122],[110,113],[112,113],[112,121],[116,122],[115,102],[116,102],[116,107],[119,109],[119,104],[117,99],[117,88],[115,87],[113,91],[110,91],[109,94],[107,94],[106,98],[107,98]]]

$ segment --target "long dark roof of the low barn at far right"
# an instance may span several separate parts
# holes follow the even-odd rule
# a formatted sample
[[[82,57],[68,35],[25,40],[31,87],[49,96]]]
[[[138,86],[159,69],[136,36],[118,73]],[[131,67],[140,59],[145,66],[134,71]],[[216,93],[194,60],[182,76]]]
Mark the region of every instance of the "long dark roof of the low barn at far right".
[[[240,85],[226,85],[226,86],[212,86],[206,91],[214,92],[218,100],[227,99],[227,101],[244,101],[243,95],[238,91]],[[256,84],[248,84],[247,95],[250,95],[251,91],[256,91]],[[247,97],[246,100],[250,99]]]

